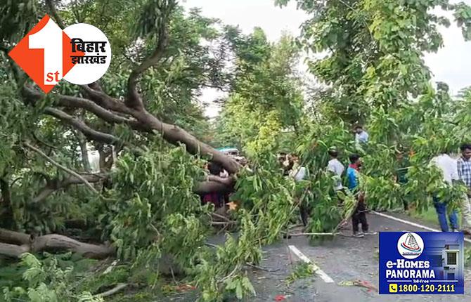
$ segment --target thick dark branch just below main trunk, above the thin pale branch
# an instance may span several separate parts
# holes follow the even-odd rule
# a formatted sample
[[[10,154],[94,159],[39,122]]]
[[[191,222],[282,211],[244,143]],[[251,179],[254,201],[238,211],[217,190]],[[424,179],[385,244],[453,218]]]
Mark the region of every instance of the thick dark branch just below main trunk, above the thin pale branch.
[[[71,115],[55,109],[51,107],[46,107],[44,109],[44,113],[51,115],[51,117],[56,117],[56,119],[60,119],[62,122],[73,126],[78,131],[84,133],[87,138],[91,140],[96,140],[97,142],[108,143],[108,144],[120,144],[121,141],[119,138],[112,136],[109,133],[103,133],[100,131],[96,131],[95,129],[91,129],[87,126],[82,120],[77,119],[76,117],[72,117]]]

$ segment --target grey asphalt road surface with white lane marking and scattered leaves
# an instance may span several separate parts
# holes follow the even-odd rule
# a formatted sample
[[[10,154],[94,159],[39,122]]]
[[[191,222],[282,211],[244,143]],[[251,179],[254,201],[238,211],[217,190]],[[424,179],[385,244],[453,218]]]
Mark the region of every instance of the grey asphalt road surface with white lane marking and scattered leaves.
[[[381,215],[381,214],[380,214]],[[437,225],[409,225],[392,218],[368,214],[370,230],[376,232],[430,231]],[[393,216],[393,214],[387,214]],[[408,216],[394,214],[393,217],[420,224]],[[221,238],[215,238],[218,243]],[[342,230],[335,239],[310,244],[304,236],[284,239],[283,242],[264,247],[264,270],[253,268],[250,279],[257,296],[246,301],[285,301],[285,302],[458,302],[471,301],[471,269],[465,268],[465,295],[379,295],[378,289],[378,235],[364,238],[351,237],[351,225]],[[301,258],[300,258],[301,257]],[[318,270],[312,277],[297,280],[288,285],[285,280],[292,273],[298,261],[311,261]],[[362,281],[373,289],[352,285]],[[278,298],[278,299],[277,299]],[[195,297],[179,296],[169,301],[194,301]]]

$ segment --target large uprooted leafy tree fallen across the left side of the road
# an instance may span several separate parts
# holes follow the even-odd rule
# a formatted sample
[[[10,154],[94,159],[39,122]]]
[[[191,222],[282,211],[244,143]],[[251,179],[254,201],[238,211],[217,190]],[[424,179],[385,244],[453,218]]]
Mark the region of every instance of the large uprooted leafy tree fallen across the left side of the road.
[[[235,85],[227,62],[236,47],[245,47],[250,56],[246,42],[251,38],[234,27],[217,29],[217,20],[198,11],[184,13],[173,0],[8,1],[1,12],[0,254],[117,256],[134,263],[128,276],[142,268],[152,272],[146,280],[159,270],[193,276],[207,301],[221,298],[223,289],[239,297],[252,293],[245,265],[261,260],[260,245],[277,239],[292,216],[295,205],[286,190],[292,180],[280,176],[262,183],[262,173],[278,170],[267,159],[269,171],[249,176],[259,182],[256,192],[244,192],[251,204],[231,218],[217,216],[219,221],[195,194],[235,185],[207,181],[202,159],[218,162],[233,177],[240,173],[242,182],[248,173],[207,144],[211,129],[195,99],[201,88]],[[113,59],[99,83],[61,82],[44,95],[8,60],[8,51],[45,13],[60,27],[87,22],[107,34]],[[205,46],[202,40],[210,43]],[[92,151],[98,153],[98,169],[89,162]],[[262,194],[267,190],[270,197]],[[242,232],[238,240],[228,237],[216,253],[205,242],[212,225],[238,225]],[[44,270],[63,274],[55,266]],[[79,289],[28,282],[29,292],[79,299]],[[87,282],[93,288],[87,290],[101,291],[100,283]]]

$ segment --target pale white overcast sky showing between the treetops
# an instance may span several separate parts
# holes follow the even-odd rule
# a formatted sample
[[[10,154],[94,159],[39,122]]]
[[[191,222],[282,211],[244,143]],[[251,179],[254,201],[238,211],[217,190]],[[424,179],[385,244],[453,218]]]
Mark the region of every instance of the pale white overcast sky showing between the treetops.
[[[451,0],[451,2],[455,2]],[[471,0],[464,0],[471,5]],[[296,8],[292,0],[288,7],[278,8],[274,0],[186,0],[186,8],[198,7],[202,15],[220,19],[224,24],[239,25],[245,34],[252,32],[254,27],[262,27],[271,41],[278,40],[283,32],[294,36],[299,35],[299,26],[308,18],[304,11]],[[450,16],[450,15],[447,15]],[[471,42],[465,42],[460,29],[453,24],[449,28],[441,28],[444,37],[444,48],[437,53],[425,55],[425,62],[432,70],[435,81],[449,84],[451,93],[456,94],[460,89],[471,86]],[[209,104],[206,114],[214,117],[219,108],[212,100],[223,96],[219,91],[206,89],[201,100]]]

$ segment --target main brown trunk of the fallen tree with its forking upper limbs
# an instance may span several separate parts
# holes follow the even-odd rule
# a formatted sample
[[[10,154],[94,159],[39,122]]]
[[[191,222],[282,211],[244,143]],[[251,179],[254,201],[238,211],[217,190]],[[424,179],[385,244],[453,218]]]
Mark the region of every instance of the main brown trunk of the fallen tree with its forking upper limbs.
[[[49,4],[51,5],[51,4]],[[138,84],[138,78],[148,70],[148,68],[156,65],[160,62],[162,55],[164,54],[167,46],[167,27],[169,23],[169,15],[172,13],[176,6],[176,1],[169,1],[167,4],[162,6],[162,22],[160,27],[157,29],[158,39],[155,51],[146,60],[143,60],[141,65],[138,65],[136,69],[132,70],[128,79],[128,91],[127,96],[124,100],[112,98],[101,90],[98,84],[94,83],[91,85],[81,85],[80,88],[89,97],[77,98],[74,96],[62,96],[57,95],[60,107],[75,107],[83,108],[88,112],[96,114],[97,117],[103,119],[105,122],[112,124],[116,123],[127,123],[133,129],[138,131],[147,131],[150,133],[160,133],[164,140],[167,140],[173,145],[179,145],[180,143],[186,145],[188,152],[192,154],[198,154],[202,156],[210,157],[212,161],[221,164],[226,171],[229,173],[236,173],[240,169],[240,165],[235,159],[228,157],[221,152],[214,150],[209,145],[202,143],[200,140],[192,136],[187,131],[181,129],[179,126],[172,124],[166,124],[160,119],[157,119],[153,114],[147,112],[146,107],[143,103],[141,96],[136,88]],[[54,11],[51,8],[51,11]],[[58,17],[57,14],[55,16]],[[32,88],[24,87],[22,89],[23,96],[29,100],[29,103],[34,104],[34,100],[38,100],[44,97],[44,94],[36,91]],[[119,114],[127,115],[128,117],[122,117]],[[84,133],[84,135],[97,142],[107,143],[110,145],[122,144],[119,138],[112,136],[109,133],[103,133],[91,129],[84,121],[77,119],[77,117],[71,116],[62,110],[57,108],[46,107],[44,113],[49,114],[62,122],[73,126],[75,129]]]

